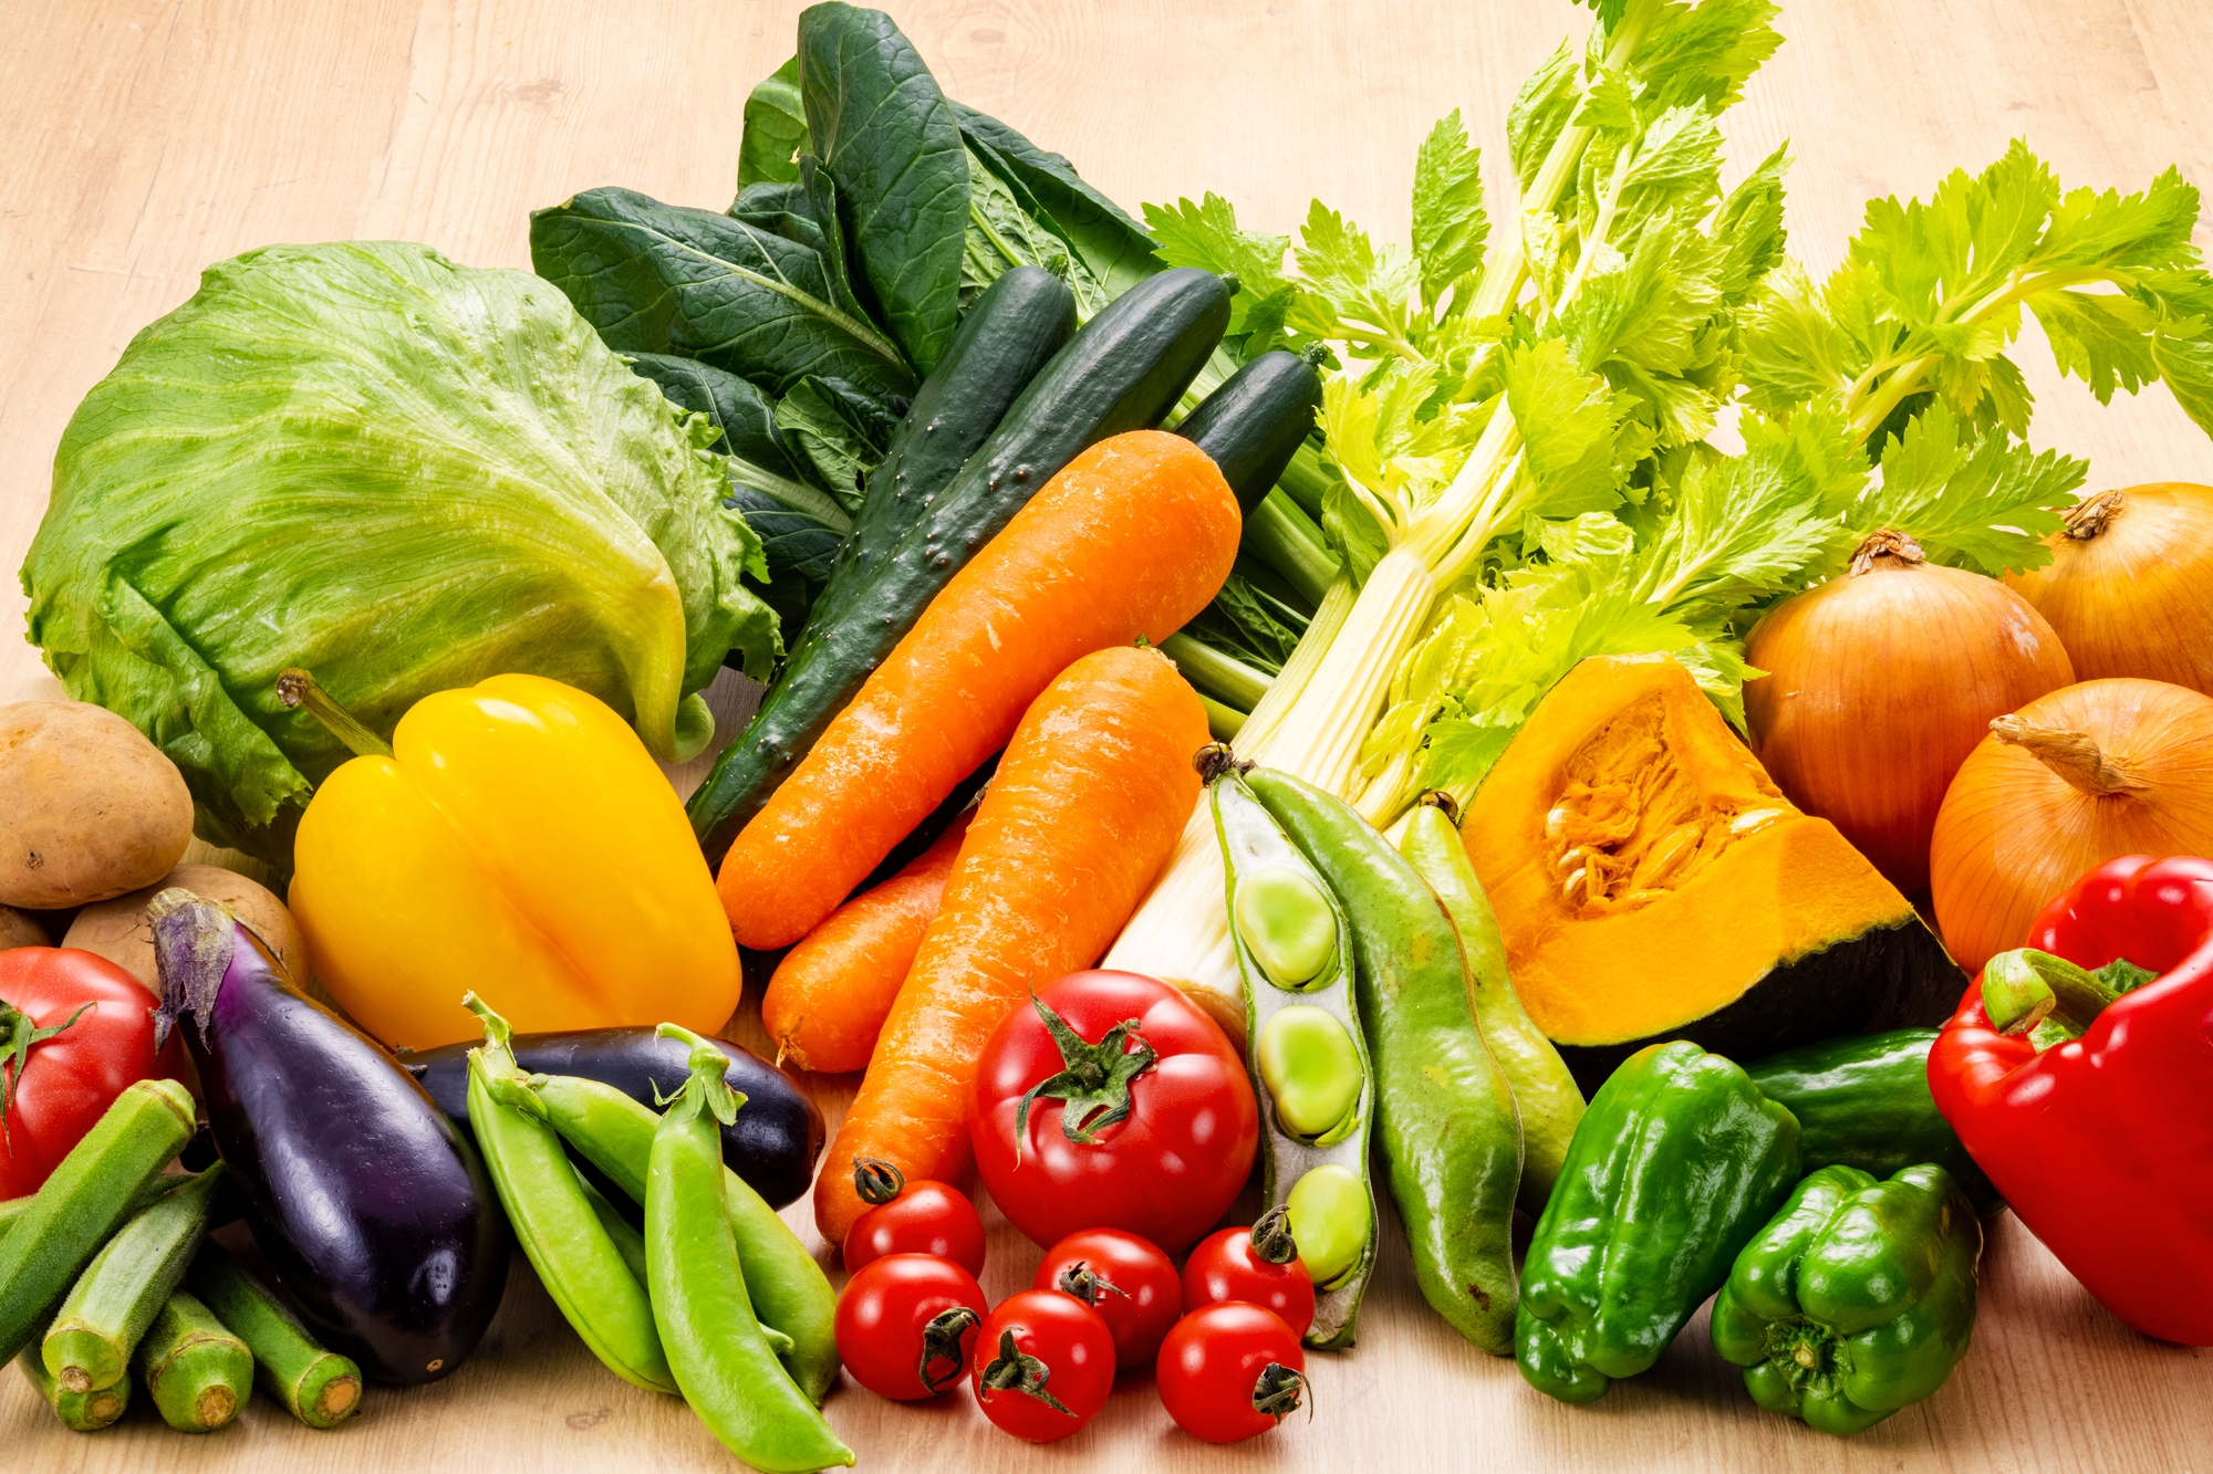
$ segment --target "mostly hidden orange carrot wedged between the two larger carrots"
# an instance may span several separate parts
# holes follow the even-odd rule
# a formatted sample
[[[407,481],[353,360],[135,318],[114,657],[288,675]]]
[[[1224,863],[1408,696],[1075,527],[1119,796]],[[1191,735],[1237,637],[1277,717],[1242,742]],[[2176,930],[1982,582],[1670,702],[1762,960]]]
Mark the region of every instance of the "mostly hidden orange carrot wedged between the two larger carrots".
[[[914,967],[945,876],[960,859],[963,812],[914,863],[830,912],[783,954],[761,994],[761,1023],[777,1040],[777,1065],[843,1071],[867,1065],[892,998]]]

